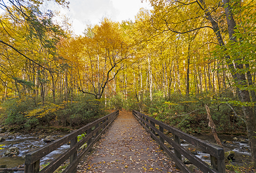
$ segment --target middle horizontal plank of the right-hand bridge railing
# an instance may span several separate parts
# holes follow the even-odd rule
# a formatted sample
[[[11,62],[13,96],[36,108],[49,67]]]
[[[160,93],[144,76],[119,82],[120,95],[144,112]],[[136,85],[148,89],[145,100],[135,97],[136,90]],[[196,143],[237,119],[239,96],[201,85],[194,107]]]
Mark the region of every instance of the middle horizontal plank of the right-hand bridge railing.
[[[141,118],[141,120],[143,121],[142,118]],[[181,153],[185,158],[187,158],[191,163],[193,163],[201,171],[210,172],[210,173],[219,173],[218,171],[210,168],[210,166],[208,164],[204,163],[201,159],[197,158],[191,152],[187,151],[185,148],[178,145],[171,138],[167,137],[164,133],[160,132],[156,127],[151,126],[151,124],[146,121],[144,121],[144,122],[147,123],[149,125],[149,127],[153,128],[155,130],[155,132],[157,132],[159,134],[160,137],[163,137],[166,142],[171,144],[171,146],[173,148],[175,148],[179,153]]]

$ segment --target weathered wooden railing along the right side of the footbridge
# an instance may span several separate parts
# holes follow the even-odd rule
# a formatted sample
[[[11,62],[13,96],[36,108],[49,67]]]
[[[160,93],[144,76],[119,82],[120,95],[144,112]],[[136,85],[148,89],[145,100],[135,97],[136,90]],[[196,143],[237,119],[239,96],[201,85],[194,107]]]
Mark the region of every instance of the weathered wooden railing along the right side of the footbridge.
[[[146,116],[140,112],[133,110],[133,115],[138,119],[140,124],[150,133],[151,137],[165,150],[165,152],[174,160],[176,167],[180,168],[184,173],[192,173],[190,169],[182,162],[181,155],[187,158],[192,164],[204,173],[225,173],[224,149],[212,143],[204,142],[197,137],[193,137],[181,130],[166,125],[163,122],[155,120],[153,117]],[[158,125],[158,126],[156,126]],[[166,136],[164,129],[173,134],[173,139]],[[159,137],[156,136],[156,133]],[[181,146],[181,139],[191,143],[203,152],[210,154],[211,166],[197,158],[190,151]],[[174,148],[174,153],[165,146],[165,141]]]

